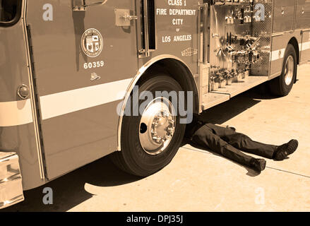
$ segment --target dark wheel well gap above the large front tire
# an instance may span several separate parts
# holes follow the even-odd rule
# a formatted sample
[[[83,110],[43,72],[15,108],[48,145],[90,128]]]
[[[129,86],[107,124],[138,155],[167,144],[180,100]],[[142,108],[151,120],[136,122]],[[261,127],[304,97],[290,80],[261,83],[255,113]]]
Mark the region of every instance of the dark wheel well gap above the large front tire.
[[[171,58],[156,61],[145,71],[145,73],[143,73],[143,76],[138,80],[138,84],[150,78],[154,72],[167,73],[167,75],[174,78],[181,85],[181,88],[183,88],[184,91],[192,91],[194,99],[193,113],[198,114],[199,102],[196,82],[193,78],[193,74],[184,63]]]

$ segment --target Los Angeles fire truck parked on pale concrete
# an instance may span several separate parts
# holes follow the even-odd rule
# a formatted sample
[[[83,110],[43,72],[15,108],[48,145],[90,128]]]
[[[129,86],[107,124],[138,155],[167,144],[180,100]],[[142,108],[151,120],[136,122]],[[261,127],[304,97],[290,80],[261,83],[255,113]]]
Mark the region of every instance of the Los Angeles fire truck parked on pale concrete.
[[[288,95],[310,58],[309,0],[0,3],[0,208],[106,155],[142,177],[169,164],[183,116],[165,96],[124,114],[137,86],[200,114],[261,84]]]

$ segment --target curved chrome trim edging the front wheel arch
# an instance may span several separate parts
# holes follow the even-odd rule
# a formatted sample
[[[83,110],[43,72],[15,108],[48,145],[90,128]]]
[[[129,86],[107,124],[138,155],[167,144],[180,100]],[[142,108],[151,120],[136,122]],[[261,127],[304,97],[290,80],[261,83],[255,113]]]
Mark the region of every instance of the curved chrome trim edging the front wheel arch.
[[[129,96],[131,94],[131,91],[133,90],[133,87],[136,85],[136,83],[138,82],[138,80],[141,78],[141,76],[143,76],[143,73],[145,73],[145,71],[152,66],[153,64],[155,64],[157,61],[160,61],[162,59],[176,59],[178,61],[180,61],[182,64],[184,64],[187,69],[189,69],[189,66],[182,61],[181,59],[179,59],[178,57],[175,57],[173,55],[169,55],[169,54],[162,54],[160,56],[154,57],[153,59],[150,59],[150,61],[148,61],[146,64],[144,64],[141,69],[139,69],[138,73],[136,74],[136,76],[133,78],[133,80],[131,81],[127,91],[126,91],[126,95],[124,97],[124,102],[123,105],[121,107],[121,112],[120,112],[120,116],[119,116],[119,126],[118,126],[118,130],[117,130],[117,150],[121,151],[121,124],[123,122],[123,114],[125,112],[125,107],[126,107],[126,102],[129,99]],[[189,71],[191,72],[191,75],[193,76],[193,73],[191,71],[191,69],[189,69]],[[194,78],[194,76],[193,76]],[[195,78],[194,78],[195,79]],[[196,89],[198,90],[197,84],[196,85]],[[198,97],[199,98],[199,97]],[[198,100],[199,102],[199,100]]]

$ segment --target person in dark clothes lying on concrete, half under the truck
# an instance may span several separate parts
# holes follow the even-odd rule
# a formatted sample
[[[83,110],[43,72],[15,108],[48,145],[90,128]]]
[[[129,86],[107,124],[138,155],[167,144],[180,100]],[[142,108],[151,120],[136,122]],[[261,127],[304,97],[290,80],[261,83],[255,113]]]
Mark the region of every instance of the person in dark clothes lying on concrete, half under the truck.
[[[191,145],[209,148],[229,160],[256,169],[258,172],[266,168],[266,160],[251,157],[245,153],[282,161],[292,155],[298,147],[297,140],[291,140],[279,146],[252,141],[249,136],[237,133],[234,127],[206,123],[198,116],[193,117],[192,123],[186,126],[185,137],[189,139]]]

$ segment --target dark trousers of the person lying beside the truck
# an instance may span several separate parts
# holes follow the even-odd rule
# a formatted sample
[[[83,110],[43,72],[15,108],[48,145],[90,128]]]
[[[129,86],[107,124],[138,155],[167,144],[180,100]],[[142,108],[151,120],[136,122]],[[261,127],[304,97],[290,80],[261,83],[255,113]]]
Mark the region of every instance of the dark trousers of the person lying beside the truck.
[[[194,145],[210,148],[215,153],[246,166],[251,166],[250,161],[254,157],[246,155],[242,151],[272,159],[277,147],[252,141],[249,136],[237,133],[234,129],[214,124],[203,125],[193,134],[191,142]]]

